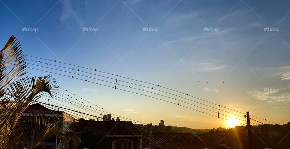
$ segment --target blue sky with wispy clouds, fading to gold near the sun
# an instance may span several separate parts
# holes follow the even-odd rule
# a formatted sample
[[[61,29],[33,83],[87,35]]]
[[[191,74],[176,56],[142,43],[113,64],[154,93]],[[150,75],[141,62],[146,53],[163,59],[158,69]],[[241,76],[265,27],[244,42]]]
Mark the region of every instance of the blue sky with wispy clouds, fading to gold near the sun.
[[[154,87],[156,94],[169,91],[193,100],[180,99],[190,103],[186,104],[174,100],[175,95],[164,94],[173,98],[170,99],[141,92],[166,100],[162,101],[80,80],[86,80],[90,76],[115,82],[112,79],[87,73],[73,79],[54,74],[72,76],[71,70],[65,73],[28,64],[31,68],[54,72],[27,68],[31,74],[51,74],[60,87],[111,113],[137,121],[133,123],[139,121],[158,125],[160,120],[164,120],[165,125],[194,129],[228,128],[229,123],[224,119],[235,117],[245,120],[234,114],[243,116],[246,111],[250,111],[250,115],[279,124],[290,121],[288,1],[0,2],[1,47],[11,35],[15,35],[22,44],[24,54],[158,84],[202,99],[120,78]],[[37,58],[26,58],[39,61]],[[27,62],[41,65],[33,61]],[[60,69],[51,65],[42,66]],[[116,77],[80,67],[74,69]],[[79,79],[75,79],[76,77]],[[96,79],[92,81],[114,87],[114,84],[108,82]],[[139,92],[125,87],[134,86],[130,83],[118,83],[124,85],[119,85],[119,88]],[[89,92],[85,92],[84,88]],[[223,109],[233,114],[224,112],[227,116],[221,115],[224,119],[219,119],[214,117],[218,115],[215,113],[218,110],[214,109],[218,106],[203,100],[242,113]],[[56,100],[54,102],[75,108],[69,103]],[[261,119],[256,120],[272,124]]]

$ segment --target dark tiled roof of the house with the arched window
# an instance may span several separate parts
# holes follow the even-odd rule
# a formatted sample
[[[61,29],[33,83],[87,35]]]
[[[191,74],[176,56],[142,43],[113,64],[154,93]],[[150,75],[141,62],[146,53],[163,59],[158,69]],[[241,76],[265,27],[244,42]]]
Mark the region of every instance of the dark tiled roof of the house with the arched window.
[[[123,121],[80,121],[73,122],[70,130],[83,132],[85,130],[97,130],[106,135],[142,135],[132,122]]]

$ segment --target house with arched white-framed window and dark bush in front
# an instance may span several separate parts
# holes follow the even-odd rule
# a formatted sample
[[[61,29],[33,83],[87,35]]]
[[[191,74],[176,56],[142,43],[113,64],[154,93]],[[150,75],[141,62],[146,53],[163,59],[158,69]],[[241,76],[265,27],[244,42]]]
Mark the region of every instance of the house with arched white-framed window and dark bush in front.
[[[142,133],[132,122],[123,121],[80,121],[73,122],[66,132],[70,138],[68,149],[77,149],[80,134],[86,130],[95,130],[109,139],[113,149],[141,149]]]

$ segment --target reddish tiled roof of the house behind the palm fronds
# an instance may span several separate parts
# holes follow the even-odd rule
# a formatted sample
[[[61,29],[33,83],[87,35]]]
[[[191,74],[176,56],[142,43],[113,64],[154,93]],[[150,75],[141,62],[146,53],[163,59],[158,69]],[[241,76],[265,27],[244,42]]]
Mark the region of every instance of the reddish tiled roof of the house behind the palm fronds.
[[[57,114],[58,111],[56,111],[56,110],[50,110],[50,109],[44,107],[43,105],[41,105],[39,103],[36,103],[36,104],[29,105],[24,110],[24,113],[53,113],[53,114]]]

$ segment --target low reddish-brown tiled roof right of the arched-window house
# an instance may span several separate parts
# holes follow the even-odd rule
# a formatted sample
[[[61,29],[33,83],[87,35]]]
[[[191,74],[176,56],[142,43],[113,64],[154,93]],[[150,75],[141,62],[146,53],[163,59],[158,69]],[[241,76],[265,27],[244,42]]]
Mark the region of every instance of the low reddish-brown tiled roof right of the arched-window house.
[[[226,149],[221,145],[208,144],[190,133],[143,133],[144,147],[152,149]]]

